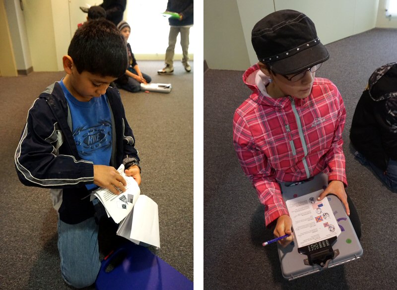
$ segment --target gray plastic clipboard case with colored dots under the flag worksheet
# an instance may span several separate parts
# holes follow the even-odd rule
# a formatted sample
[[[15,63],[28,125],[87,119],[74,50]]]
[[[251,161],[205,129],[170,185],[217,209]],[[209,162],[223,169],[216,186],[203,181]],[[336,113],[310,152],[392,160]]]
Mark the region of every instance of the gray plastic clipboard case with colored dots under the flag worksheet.
[[[284,201],[306,195],[308,193],[325,189],[328,185],[328,175],[318,174],[312,180],[304,183],[281,183],[281,192]],[[328,268],[332,268],[343,263],[359,259],[363,254],[363,249],[357,238],[356,232],[346,214],[342,202],[335,195],[328,195],[328,201],[331,205],[332,212],[336,218],[337,225],[341,233],[332,239],[331,245],[332,258],[327,264],[320,266],[312,264],[308,260],[307,255],[298,251],[298,244],[294,237],[294,242],[282,248],[277,243],[278,255],[280,258],[282,275],[287,280],[297,279],[303,276],[314,274]],[[302,248],[299,248],[300,250]]]

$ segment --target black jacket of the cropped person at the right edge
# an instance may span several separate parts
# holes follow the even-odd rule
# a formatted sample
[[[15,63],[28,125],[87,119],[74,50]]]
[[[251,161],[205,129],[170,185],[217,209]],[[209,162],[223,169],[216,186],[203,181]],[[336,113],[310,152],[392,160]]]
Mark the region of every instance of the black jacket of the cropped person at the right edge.
[[[354,148],[386,170],[397,160],[397,63],[376,69],[354,112],[350,129]]]

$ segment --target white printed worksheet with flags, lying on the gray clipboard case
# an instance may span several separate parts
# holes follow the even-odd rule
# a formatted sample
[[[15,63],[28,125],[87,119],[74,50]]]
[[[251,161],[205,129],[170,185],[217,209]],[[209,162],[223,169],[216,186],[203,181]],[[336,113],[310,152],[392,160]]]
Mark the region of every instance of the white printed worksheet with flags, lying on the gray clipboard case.
[[[322,192],[318,190],[285,202],[298,247],[338,236],[341,232],[328,198],[317,200]]]

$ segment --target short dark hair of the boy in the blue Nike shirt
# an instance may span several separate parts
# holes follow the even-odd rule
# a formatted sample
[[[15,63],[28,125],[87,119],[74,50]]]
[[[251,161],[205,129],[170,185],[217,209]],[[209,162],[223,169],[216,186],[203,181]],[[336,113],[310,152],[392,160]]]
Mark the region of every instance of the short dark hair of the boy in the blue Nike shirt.
[[[67,55],[77,71],[120,77],[128,67],[127,44],[116,26],[105,19],[87,21],[74,33]]]

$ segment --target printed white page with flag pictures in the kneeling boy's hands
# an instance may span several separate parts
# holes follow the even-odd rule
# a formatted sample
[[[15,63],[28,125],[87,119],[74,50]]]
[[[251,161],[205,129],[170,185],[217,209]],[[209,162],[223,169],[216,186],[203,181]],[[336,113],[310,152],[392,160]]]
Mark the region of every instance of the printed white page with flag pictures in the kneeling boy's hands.
[[[109,189],[101,187],[93,192],[93,195],[102,202],[108,216],[111,216],[116,224],[120,223],[131,212],[140,194],[138,183],[132,176],[127,176],[124,173],[123,164],[119,167],[118,172],[127,182],[126,191],[119,190],[120,194],[116,195]]]

